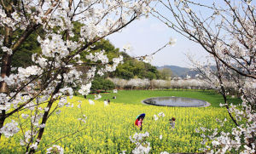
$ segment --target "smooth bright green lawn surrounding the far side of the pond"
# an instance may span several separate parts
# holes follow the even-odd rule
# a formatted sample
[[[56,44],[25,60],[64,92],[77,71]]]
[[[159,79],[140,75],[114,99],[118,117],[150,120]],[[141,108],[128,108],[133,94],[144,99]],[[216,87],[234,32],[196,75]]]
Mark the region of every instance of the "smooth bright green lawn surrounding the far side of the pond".
[[[219,103],[224,103],[222,95],[212,90],[119,90],[117,94],[113,94],[113,91],[110,91],[109,94],[101,95],[102,99],[100,100],[109,99],[111,102],[137,105],[141,104],[142,100],[158,96],[177,96],[205,100],[211,103],[212,107],[218,107]],[[113,96],[116,96],[116,99],[113,99]],[[94,99],[94,94],[89,94],[87,98]],[[229,97],[229,102],[237,104],[241,100]]]

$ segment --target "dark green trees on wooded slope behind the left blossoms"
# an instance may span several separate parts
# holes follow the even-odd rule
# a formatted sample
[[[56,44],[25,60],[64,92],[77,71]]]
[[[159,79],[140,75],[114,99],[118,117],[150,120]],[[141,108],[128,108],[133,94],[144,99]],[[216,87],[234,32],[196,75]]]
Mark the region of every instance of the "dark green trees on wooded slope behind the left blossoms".
[[[77,30],[74,30],[75,36],[73,39],[78,39],[79,37],[79,28],[81,24],[76,23]],[[3,31],[3,30],[2,30]],[[44,31],[39,31],[44,34]],[[19,33],[19,31],[17,31]],[[19,35],[19,34],[17,34]],[[14,67],[26,67],[32,65],[32,54],[40,52],[40,44],[37,41],[38,31],[35,31],[28,37],[28,39],[21,45],[17,54],[13,57],[13,66]],[[172,77],[172,71],[170,69],[160,69],[158,70],[155,66],[152,66],[149,63],[145,63],[141,60],[137,60],[132,58],[129,54],[126,54],[123,51],[120,51],[119,48],[115,48],[112,43],[109,42],[108,39],[102,39],[97,43],[94,43],[93,48],[90,48],[92,53],[96,53],[104,50],[105,54],[107,54],[108,59],[112,60],[119,55],[124,57],[124,62],[119,64],[116,71],[108,72],[104,76],[96,75],[95,80],[92,82],[91,90],[96,92],[98,89],[102,89],[104,91],[113,89],[114,84],[108,77],[112,78],[121,78],[121,79],[132,79],[132,78],[142,78],[142,79],[168,79]],[[0,56],[3,54],[2,50],[0,50]],[[86,61],[86,53],[82,53],[81,60]],[[86,72],[88,69],[80,68],[80,70]],[[84,73],[85,74],[85,73]],[[86,75],[84,75],[86,77]],[[77,88],[79,89],[79,88]]]

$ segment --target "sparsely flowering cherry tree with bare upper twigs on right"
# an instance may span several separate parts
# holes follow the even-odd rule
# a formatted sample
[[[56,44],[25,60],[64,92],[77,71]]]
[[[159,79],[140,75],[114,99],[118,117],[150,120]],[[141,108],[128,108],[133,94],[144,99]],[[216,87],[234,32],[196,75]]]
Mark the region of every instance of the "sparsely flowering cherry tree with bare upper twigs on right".
[[[209,152],[239,151],[255,153],[256,132],[256,15],[251,0],[201,2],[194,0],[159,0],[165,9],[152,13],[166,26],[189,40],[199,43],[209,54],[205,64],[192,60],[207,83],[223,95],[231,120],[232,132],[214,129],[207,135],[212,141]],[[162,10],[169,13],[161,12]],[[211,66],[216,66],[212,70]],[[227,84],[229,82],[229,84]],[[230,83],[240,93],[242,103],[235,106],[227,99]],[[221,122],[224,124],[224,122]],[[202,132],[212,130],[201,128]]]

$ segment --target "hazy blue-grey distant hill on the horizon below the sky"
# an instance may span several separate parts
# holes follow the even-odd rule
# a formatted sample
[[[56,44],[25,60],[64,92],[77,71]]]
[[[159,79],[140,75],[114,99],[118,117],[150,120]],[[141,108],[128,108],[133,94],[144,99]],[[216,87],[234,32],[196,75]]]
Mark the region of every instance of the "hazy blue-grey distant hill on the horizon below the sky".
[[[189,69],[187,67],[180,67],[180,66],[157,66],[157,69],[163,69],[163,68],[168,68],[172,71],[173,77],[195,77],[196,74],[200,74],[199,71],[195,71],[192,69]]]

